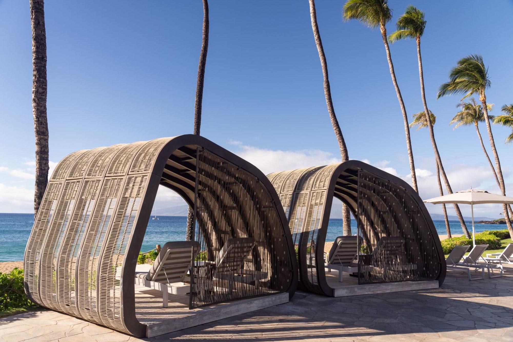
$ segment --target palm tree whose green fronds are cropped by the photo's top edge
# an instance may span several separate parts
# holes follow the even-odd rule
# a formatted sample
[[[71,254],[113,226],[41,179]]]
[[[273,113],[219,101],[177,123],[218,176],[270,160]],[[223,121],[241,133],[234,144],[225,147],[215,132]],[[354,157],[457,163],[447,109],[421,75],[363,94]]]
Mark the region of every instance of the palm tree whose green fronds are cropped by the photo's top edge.
[[[404,106],[403,97],[401,96],[401,90],[397,84],[396,72],[393,70],[392,56],[390,54],[390,48],[388,46],[388,40],[386,36],[386,23],[392,18],[392,10],[388,7],[387,0],[348,0],[344,5],[343,9],[344,20],[348,21],[356,19],[366,24],[370,28],[380,27],[381,37],[383,44],[385,45],[386,56],[388,60],[388,68],[390,69],[390,76],[392,77],[392,83],[396,88],[397,99],[403,113],[404,121],[404,134],[406,135],[406,148],[408,150],[408,160],[410,163],[411,171],[411,185],[416,192],[419,192],[417,187],[417,176],[415,174],[415,163],[413,162],[413,151],[411,149],[410,140],[410,129],[408,126],[408,116],[406,114],[406,108]]]

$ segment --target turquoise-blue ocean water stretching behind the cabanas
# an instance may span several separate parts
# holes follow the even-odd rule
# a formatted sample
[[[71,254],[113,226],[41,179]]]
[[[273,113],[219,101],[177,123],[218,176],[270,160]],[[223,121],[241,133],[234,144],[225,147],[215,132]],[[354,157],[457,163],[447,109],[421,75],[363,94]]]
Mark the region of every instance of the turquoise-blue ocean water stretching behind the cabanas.
[[[32,214],[0,213],[0,262],[23,260],[25,245],[34,224]],[[444,221],[433,221],[438,234],[446,234]],[[185,240],[185,216],[160,216],[159,220],[150,220],[144,237],[142,251],[155,248],[156,244],[167,241]],[[459,221],[449,221],[452,234],[462,234]],[[467,222],[469,229],[471,223]],[[351,220],[353,234],[356,233],[356,221]],[[505,224],[476,224],[476,232],[485,230],[505,229]],[[342,232],[342,219],[330,219],[327,241],[333,241]]]

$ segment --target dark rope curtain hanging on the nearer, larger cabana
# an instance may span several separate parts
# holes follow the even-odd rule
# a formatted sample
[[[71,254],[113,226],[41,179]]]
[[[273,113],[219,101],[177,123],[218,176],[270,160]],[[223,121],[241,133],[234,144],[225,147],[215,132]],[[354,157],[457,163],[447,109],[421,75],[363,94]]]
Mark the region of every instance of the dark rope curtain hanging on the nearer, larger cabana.
[[[196,150],[191,309],[283,292],[291,260],[267,189],[246,170]]]

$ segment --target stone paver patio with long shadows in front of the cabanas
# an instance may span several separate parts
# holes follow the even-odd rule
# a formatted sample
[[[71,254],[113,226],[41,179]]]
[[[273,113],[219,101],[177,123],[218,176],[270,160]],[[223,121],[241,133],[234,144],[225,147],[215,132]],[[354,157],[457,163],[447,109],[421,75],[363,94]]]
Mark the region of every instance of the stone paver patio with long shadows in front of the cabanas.
[[[449,270],[436,290],[341,298],[298,291],[284,305],[149,339],[37,311],[0,319],[0,340],[512,341],[513,268],[505,270],[502,278],[475,281]]]

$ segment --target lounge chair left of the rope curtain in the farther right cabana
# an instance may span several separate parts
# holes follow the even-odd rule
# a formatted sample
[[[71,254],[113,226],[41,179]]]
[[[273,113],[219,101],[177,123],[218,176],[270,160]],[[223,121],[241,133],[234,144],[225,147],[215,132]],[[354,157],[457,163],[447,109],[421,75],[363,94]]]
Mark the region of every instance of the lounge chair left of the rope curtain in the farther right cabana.
[[[358,255],[358,236],[339,236],[333,242],[331,250],[326,255],[326,268],[339,271],[339,281],[342,273],[358,272],[358,263],[353,262]]]

